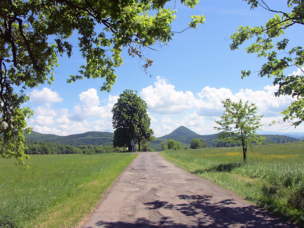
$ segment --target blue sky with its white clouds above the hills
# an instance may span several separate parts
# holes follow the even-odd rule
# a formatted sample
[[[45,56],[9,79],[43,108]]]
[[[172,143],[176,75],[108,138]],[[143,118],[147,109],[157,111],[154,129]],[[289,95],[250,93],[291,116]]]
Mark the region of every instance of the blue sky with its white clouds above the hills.
[[[286,1],[271,0],[267,3],[280,10],[289,11]],[[168,4],[174,7],[174,1]],[[117,82],[110,93],[100,92],[104,82],[81,80],[66,84],[69,74],[76,74],[84,63],[77,51],[77,36],[71,37],[75,48],[69,59],[59,58],[53,85],[40,85],[28,90],[26,103],[35,115],[27,121],[34,131],[45,134],[70,135],[87,131],[108,131],[111,127],[111,108],[119,94],[126,89],[136,90],[148,105],[151,128],[157,137],[183,125],[199,134],[213,134],[215,120],[223,112],[221,100],[228,97],[238,101],[256,103],[263,114],[263,131],[282,131],[284,126],[269,126],[273,120],[282,119],[280,111],[292,101],[291,97],[276,98],[273,80],[252,74],[241,79],[241,70],[259,70],[264,59],[248,55],[245,45],[231,51],[229,37],[241,25],[258,26],[274,16],[263,9],[250,10],[241,0],[201,1],[195,9],[183,7],[176,1],[177,20],[174,31],[187,27],[190,16],[204,14],[205,24],[174,35],[168,46],[158,51],[146,51],[154,60],[145,74],[138,58],[129,57],[124,50],[124,64],[116,69]],[[294,26],[286,32],[292,46],[301,45],[303,30]],[[292,73],[290,68],[286,73]],[[149,77],[151,75],[151,77]],[[286,132],[303,132],[304,127],[288,128]]]

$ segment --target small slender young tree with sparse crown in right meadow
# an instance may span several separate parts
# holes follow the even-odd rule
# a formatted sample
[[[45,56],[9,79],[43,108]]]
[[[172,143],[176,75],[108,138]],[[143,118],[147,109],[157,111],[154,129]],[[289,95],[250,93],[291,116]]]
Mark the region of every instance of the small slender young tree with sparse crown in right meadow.
[[[222,101],[224,113],[220,121],[215,121],[218,126],[215,130],[220,131],[214,141],[241,143],[243,147],[243,160],[246,162],[247,144],[260,143],[265,138],[256,134],[256,131],[262,126],[260,119],[256,115],[257,107],[255,104],[243,103],[242,100],[232,102],[229,98]]]

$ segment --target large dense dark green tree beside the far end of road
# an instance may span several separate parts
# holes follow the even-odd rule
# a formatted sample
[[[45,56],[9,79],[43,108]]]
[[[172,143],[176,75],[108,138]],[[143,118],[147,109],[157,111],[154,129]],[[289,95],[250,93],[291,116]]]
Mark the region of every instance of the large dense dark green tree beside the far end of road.
[[[138,143],[142,140],[153,139],[154,132],[150,129],[150,118],[147,114],[147,105],[133,90],[125,90],[112,108],[114,146],[128,145],[133,139]]]

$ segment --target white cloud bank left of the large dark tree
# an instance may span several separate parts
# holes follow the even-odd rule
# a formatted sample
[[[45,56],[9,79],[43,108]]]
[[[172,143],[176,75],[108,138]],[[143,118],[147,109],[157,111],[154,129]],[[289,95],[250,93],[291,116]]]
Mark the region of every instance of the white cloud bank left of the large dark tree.
[[[49,92],[49,90],[46,91]],[[54,93],[56,92],[52,92],[52,94]],[[52,109],[49,103],[34,108],[35,115],[30,120],[29,125],[34,124],[34,131],[57,135],[77,134],[86,131],[112,131],[111,109],[118,97],[109,95],[102,106],[97,90],[91,88],[79,94],[80,102],[72,110],[67,108]]]

